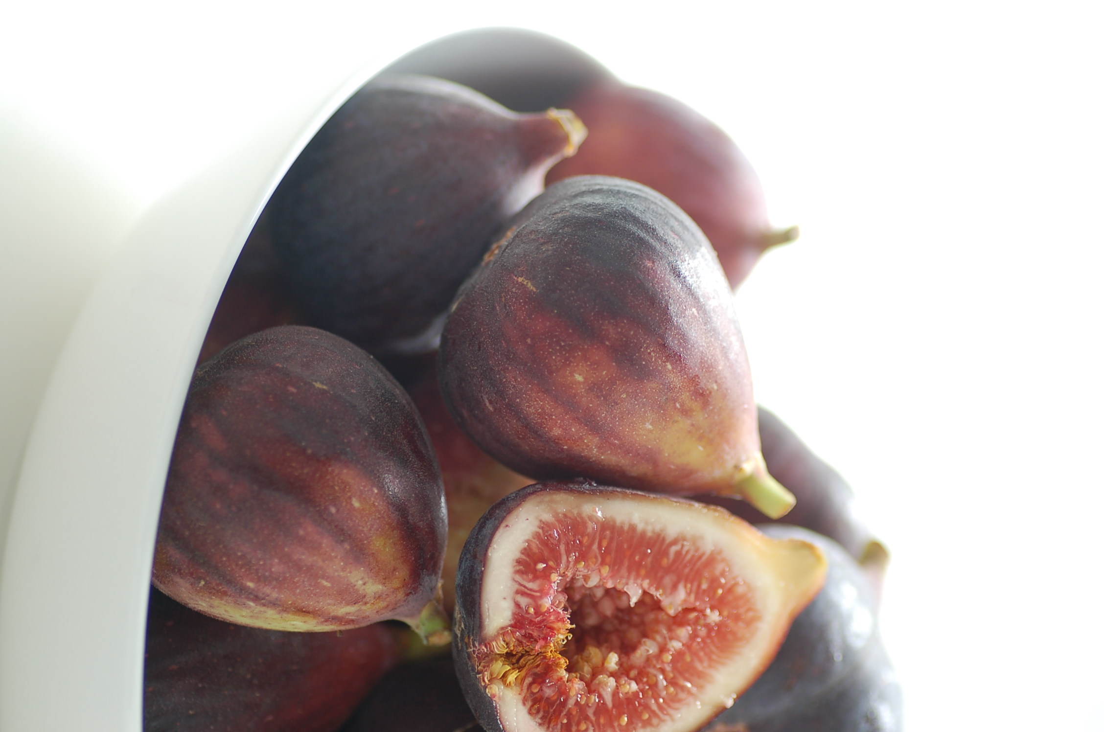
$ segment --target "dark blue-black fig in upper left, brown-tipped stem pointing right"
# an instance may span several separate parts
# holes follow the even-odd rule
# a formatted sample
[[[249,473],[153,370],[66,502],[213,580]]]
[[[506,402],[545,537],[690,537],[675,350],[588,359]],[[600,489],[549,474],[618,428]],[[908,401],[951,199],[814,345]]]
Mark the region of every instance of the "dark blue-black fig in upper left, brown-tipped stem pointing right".
[[[443,79],[369,82],[266,206],[311,322],[372,352],[433,350],[499,226],[585,135],[570,112],[518,115]]]

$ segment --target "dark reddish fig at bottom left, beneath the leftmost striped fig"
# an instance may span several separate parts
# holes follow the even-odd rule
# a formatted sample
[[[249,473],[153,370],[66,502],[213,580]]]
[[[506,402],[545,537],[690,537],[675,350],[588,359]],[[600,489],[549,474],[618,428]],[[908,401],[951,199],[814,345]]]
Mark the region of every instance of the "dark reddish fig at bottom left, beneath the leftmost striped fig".
[[[344,633],[233,625],[153,590],[146,732],[333,732],[399,660],[385,624]]]

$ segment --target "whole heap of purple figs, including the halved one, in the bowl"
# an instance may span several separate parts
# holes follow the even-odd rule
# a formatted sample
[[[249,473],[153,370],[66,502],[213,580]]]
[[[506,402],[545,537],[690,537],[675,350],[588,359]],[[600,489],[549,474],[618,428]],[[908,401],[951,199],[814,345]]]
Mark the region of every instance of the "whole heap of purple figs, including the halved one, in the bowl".
[[[720,128],[561,41],[384,70],[212,318],[146,729],[900,730],[888,552],[734,314],[796,235]]]

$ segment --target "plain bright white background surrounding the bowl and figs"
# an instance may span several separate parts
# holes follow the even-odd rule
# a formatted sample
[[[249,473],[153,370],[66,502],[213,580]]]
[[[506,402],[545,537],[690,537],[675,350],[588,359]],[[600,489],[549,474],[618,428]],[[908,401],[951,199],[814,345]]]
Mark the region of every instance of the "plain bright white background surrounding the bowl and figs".
[[[739,296],[756,392],[893,551],[883,634],[909,730],[1101,732],[1092,8],[9,3],[0,115],[108,170],[97,194],[137,212],[288,99],[467,28],[552,33],[683,99],[736,139],[775,223],[802,226]],[[63,178],[52,218],[92,205]]]

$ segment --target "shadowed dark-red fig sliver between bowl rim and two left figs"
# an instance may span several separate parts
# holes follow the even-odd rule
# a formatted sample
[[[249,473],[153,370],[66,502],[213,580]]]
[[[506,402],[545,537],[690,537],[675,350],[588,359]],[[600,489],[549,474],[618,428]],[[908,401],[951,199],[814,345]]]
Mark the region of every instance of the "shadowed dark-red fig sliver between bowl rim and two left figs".
[[[199,362],[240,338],[276,326],[308,325],[291,297],[264,219],[245,241],[208,326]]]

